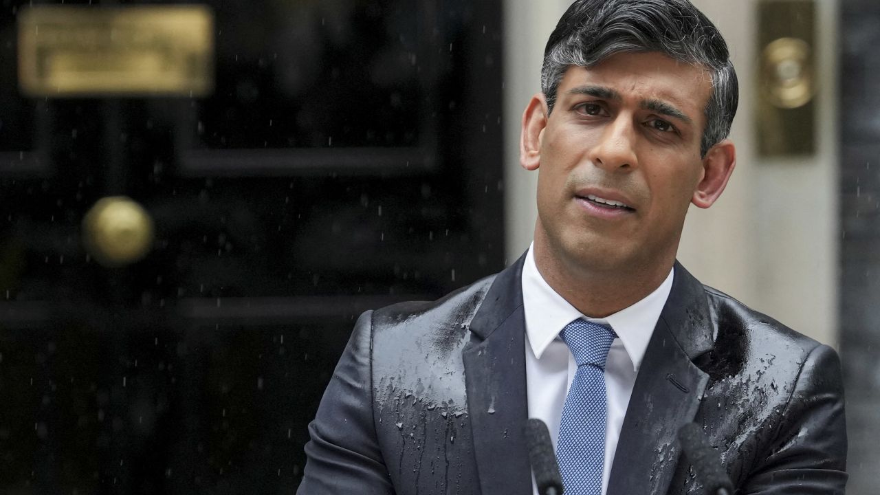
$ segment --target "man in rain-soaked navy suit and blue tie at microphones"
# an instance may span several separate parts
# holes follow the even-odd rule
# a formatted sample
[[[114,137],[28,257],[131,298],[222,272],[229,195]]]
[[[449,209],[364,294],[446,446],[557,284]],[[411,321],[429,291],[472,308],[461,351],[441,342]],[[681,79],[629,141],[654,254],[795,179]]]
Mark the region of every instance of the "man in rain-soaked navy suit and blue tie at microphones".
[[[737,77],[687,0],[579,0],[546,46],[521,162],[532,247],[444,299],[363,314],[310,426],[299,493],[526,495],[543,419],[565,492],[701,492],[702,426],[737,493],[843,493],[831,348],[676,262],[735,163]]]

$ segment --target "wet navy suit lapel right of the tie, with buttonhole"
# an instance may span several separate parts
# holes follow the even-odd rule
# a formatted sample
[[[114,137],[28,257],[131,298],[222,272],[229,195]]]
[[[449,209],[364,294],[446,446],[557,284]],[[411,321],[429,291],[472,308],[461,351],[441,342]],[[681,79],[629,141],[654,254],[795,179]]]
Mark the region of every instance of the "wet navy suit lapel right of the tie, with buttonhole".
[[[703,286],[677,262],[629,399],[608,495],[668,491],[678,464],[678,428],[693,421],[708,382],[693,359],[714,342]]]

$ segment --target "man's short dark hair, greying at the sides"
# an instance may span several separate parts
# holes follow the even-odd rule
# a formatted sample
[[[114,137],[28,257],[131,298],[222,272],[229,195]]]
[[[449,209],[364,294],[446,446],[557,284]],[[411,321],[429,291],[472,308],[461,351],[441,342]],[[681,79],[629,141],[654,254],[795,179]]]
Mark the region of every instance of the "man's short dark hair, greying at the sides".
[[[541,91],[553,111],[556,89],[568,67],[592,67],[620,52],[660,52],[706,67],[712,93],[700,155],[730,134],[739,86],[727,43],[688,0],[577,0],[550,34],[541,68]]]

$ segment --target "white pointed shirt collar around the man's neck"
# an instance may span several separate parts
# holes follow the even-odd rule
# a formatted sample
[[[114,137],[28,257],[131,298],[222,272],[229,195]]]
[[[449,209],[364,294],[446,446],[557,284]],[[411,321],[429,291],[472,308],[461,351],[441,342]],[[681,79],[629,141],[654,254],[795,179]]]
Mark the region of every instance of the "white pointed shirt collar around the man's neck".
[[[660,313],[672,289],[674,270],[654,292],[630,307],[621,309],[605,318],[589,318],[576,307],[563,299],[538,271],[535,264],[534,245],[529,247],[523,265],[523,309],[525,314],[525,333],[536,358],[546,351],[548,345],[558,337],[568,323],[583,318],[587,321],[611,325],[633,362],[635,372],[642,366],[642,358],[648,349],[651,334],[654,333]]]

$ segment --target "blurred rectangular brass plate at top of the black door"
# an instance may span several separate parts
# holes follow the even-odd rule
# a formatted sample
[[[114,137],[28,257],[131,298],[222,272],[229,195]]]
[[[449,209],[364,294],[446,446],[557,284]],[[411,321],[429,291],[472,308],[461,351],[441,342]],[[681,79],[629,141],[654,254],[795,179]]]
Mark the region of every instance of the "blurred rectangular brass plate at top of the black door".
[[[34,97],[205,96],[207,6],[35,6],[18,15],[18,83]]]

